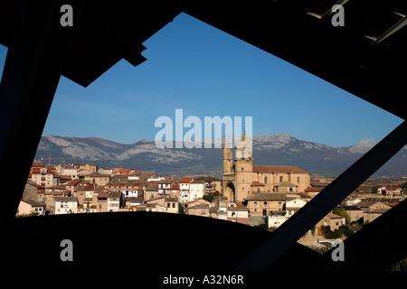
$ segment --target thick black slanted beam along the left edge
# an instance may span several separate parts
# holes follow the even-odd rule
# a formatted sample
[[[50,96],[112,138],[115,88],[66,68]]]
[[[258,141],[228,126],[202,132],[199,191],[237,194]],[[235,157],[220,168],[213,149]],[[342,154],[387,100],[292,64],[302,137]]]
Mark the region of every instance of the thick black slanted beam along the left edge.
[[[0,84],[0,173],[13,183],[13,190],[2,195],[3,233],[21,200],[69,50],[74,27],[62,27],[60,19],[61,6],[72,2],[19,4]],[[75,4],[74,14],[79,15],[80,2]]]

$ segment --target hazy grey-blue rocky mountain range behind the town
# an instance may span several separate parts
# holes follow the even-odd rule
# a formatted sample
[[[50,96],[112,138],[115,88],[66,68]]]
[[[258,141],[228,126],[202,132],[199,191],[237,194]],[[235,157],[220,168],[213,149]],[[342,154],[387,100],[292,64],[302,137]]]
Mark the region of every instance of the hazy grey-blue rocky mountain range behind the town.
[[[279,133],[253,136],[253,164],[295,165],[320,175],[337,176],[376,144],[362,138],[357,144],[332,147],[298,140]],[[407,175],[407,147],[375,173],[376,176]],[[35,160],[48,163],[48,157],[67,158],[52,163],[95,163],[106,167],[134,168],[161,173],[220,173],[222,148],[158,148],[143,139],[135,144],[118,144],[99,137],[48,135],[41,138]]]

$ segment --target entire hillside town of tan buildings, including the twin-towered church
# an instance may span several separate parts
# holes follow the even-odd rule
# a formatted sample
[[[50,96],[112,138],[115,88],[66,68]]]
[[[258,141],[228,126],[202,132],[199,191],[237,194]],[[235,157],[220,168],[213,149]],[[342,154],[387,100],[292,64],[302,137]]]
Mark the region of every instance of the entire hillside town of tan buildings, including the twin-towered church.
[[[244,135],[243,143],[246,142]],[[249,143],[222,148],[222,179],[180,177],[93,163],[34,161],[16,218],[99,213],[162,212],[278,228],[332,182],[296,166],[253,165]],[[298,240],[317,250],[345,239],[405,199],[404,179],[369,179]]]

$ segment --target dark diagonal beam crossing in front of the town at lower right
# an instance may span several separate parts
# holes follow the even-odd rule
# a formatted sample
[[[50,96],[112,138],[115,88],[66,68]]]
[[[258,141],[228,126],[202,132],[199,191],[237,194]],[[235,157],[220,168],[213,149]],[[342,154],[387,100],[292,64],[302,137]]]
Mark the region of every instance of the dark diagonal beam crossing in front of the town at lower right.
[[[362,182],[377,171],[394,154],[407,144],[407,124],[405,121],[383,138],[356,163],[319,192],[296,214],[285,221],[260,247],[253,249],[232,267],[239,271],[259,271],[269,267],[286,252],[299,238],[307,233],[320,219],[354,191]]]

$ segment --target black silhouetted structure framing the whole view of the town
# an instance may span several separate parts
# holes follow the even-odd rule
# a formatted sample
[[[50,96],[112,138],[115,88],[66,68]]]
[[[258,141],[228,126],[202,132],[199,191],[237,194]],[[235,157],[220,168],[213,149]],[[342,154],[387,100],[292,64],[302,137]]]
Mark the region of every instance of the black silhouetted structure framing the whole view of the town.
[[[66,4],[73,7],[73,26],[63,27],[60,9]],[[345,26],[331,23],[331,7],[336,4],[345,8]],[[406,1],[276,0],[222,6],[211,1],[157,4],[120,0],[0,0],[0,43],[8,47],[0,84],[0,175],[6,175],[9,183],[15,184],[13,193],[3,194],[0,210],[1,230],[6,236],[2,245],[9,248],[5,259],[8,261],[4,262],[30,252],[36,256],[35,248],[41,248],[45,256],[44,252],[54,256],[59,249],[55,242],[61,238],[75,238],[80,244],[90,241],[95,244],[102,238],[113,243],[137,238],[151,247],[162,244],[159,240],[171,239],[170,243],[175,245],[185,239],[182,233],[185,226],[199,228],[195,235],[188,236],[198,245],[209,240],[216,240],[213,246],[223,244],[218,250],[223,252],[220,256],[230,257],[224,252],[234,250],[234,257],[217,269],[383,270],[407,256],[403,246],[405,233],[397,229],[406,225],[405,200],[345,240],[345,262],[334,262],[330,252],[319,256],[296,243],[407,144],[405,122],[273,233],[191,216],[163,219],[159,214],[154,218],[143,214],[82,214],[73,218],[14,219],[60,77],[86,87],[121,59],[137,66],[146,61],[140,54],[144,50],[141,43],[181,12],[289,61],[397,117],[406,117],[407,110],[402,105],[407,84]],[[149,224],[143,225],[147,233],[142,237],[120,235],[107,226],[114,223],[120,224],[115,228],[127,228],[141,221]],[[179,235],[169,236],[171,232],[160,233],[156,229],[170,225]],[[98,239],[90,237],[90,227],[97,230],[92,231],[96,234],[92,236],[99,236]],[[244,234],[239,233],[241,230]],[[160,235],[162,232],[169,235]],[[205,238],[199,232],[204,232]],[[383,247],[386,243],[393,245]],[[24,255],[19,246],[25,246]],[[153,250],[150,253],[155,254]],[[98,257],[86,262],[83,256],[80,258],[82,261],[73,262],[72,266],[100,261]],[[108,261],[109,258],[120,259],[118,255],[107,256]],[[100,264],[97,261],[95,266]],[[168,261],[168,266],[171,264]],[[211,263],[200,259],[194,264],[205,268]],[[187,266],[182,265],[180,268]],[[66,265],[54,262],[52,266]]]

